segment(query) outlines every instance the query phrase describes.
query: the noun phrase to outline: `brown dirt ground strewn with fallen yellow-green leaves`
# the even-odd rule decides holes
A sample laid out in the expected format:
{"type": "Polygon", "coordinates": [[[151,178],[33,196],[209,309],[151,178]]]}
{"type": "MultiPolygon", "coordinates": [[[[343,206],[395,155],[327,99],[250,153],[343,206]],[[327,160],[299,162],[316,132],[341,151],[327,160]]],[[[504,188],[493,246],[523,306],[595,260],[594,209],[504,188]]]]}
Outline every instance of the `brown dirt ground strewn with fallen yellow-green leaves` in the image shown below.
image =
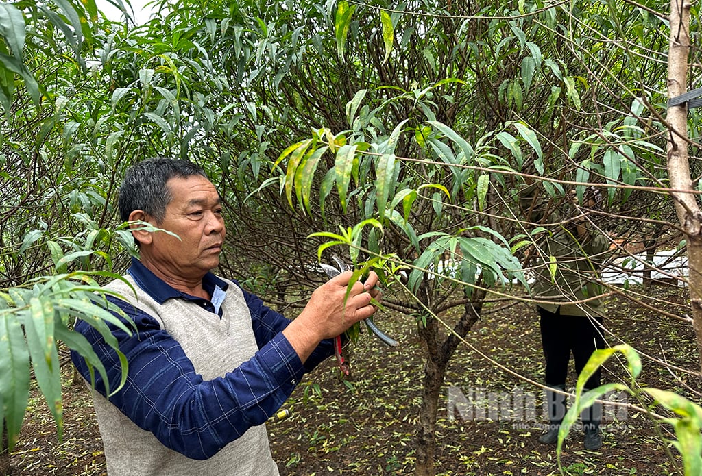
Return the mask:
{"type": "MultiPolygon", "coordinates": [[[[688,296],[682,288],[657,287],[645,297],[676,315],[686,312],[688,296]]],[[[661,363],[696,368],[691,325],[622,298],[610,299],[608,308],[607,326],[613,334],[608,343],[624,341],[649,356],[642,357],[639,382],[699,402],[685,387],[689,377],[661,363]]],[[[376,322],[402,345],[387,348],[362,335],[351,354],[350,381],[340,381],[333,359],[325,362],[286,403],[291,416],[269,424],[282,475],[413,474],[423,348],[410,318],[380,315],[376,322]]],[[[528,381],[540,382],[543,374],[536,312],[513,304],[486,313],[467,340],[473,348],[458,349],[439,402],[437,475],[560,474],[555,447],[536,441],[544,423],[541,390],[528,381]]],[[[106,474],[88,391],[82,383],[72,383],[70,372],[67,364],[62,442],[46,405],[32,393],[20,444],[11,454],[12,475],[106,474]]],[[[613,358],[607,363],[604,381],[629,382],[622,362],[613,358]]],[[[641,404],[623,392],[607,398],[641,404]]],[[[569,435],[560,456],[564,474],[682,475],[669,442],[674,436],[670,427],[630,407],[606,404],[602,428],[600,451],[585,451],[577,430],[569,435]]]]}

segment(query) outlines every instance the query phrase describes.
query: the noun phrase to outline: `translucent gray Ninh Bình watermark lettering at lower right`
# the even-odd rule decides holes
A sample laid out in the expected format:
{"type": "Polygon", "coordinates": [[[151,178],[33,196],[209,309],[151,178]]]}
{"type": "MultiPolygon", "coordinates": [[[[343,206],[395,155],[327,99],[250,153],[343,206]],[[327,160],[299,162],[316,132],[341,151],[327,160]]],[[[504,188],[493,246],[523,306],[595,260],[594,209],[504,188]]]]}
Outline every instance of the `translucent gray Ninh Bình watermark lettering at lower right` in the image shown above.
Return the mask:
{"type": "MultiPolygon", "coordinates": [[[[625,392],[605,393],[602,400],[602,430],[623,430],[628,419],[628,397],[625,392]]],[[[567,400],[573,401],[573,397],[567,400]]],[[[450,386],[446,412],[449,421],[496,421],[512,423],[513,428],[531,429],[548,425],[548,409],[543,391],[526,391],[515,387],[510,391],[494,392],[486,388],[461,390],[450,386]]]]}

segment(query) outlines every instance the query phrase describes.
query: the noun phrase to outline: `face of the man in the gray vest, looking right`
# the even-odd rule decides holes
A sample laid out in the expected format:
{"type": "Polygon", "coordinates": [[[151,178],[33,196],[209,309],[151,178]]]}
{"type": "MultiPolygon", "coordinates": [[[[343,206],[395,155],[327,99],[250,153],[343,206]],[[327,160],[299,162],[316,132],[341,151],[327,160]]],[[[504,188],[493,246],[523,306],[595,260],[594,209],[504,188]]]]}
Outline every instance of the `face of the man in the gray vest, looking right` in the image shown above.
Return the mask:
{"type": "Polygon", "coordinates": [[[225,238],[220,197],[214,185],[205,177],[192,175],[166,182],[173,199],[166,207],[161,229],[172,231],[154,233],[148,250],[152,266],[173,278],[201,278],[219,264],[219,254],[225,238]]]}

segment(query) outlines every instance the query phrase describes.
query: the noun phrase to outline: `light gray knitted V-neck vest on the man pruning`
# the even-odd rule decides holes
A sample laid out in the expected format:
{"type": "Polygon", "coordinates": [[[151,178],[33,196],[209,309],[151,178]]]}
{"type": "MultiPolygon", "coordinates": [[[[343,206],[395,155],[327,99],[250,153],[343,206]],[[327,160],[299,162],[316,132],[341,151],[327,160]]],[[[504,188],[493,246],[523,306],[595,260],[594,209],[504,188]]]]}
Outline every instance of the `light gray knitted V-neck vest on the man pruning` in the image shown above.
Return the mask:
{"type": "MultiPolygon", "coordinates": [[[[230,283],[223,302],[223,318],[183,299],[158,304],[140,290],[130,276],[132,290],[117,280],[107,287],[134,306],[152,315],[183,347],[195,372],[204,380],[225,376],[249,360],[258,347],[251,329],[251,315],[244,294],[230,283]]],[[[109,476],[277,476],[265,425],[250,428],[212,458],[197,461],[164,447],[142,430],[105,397],[93,391],[95,414],[105,447],[109,476]]],[[[216,403],[213,403],[216,404],[216,403]]]]}

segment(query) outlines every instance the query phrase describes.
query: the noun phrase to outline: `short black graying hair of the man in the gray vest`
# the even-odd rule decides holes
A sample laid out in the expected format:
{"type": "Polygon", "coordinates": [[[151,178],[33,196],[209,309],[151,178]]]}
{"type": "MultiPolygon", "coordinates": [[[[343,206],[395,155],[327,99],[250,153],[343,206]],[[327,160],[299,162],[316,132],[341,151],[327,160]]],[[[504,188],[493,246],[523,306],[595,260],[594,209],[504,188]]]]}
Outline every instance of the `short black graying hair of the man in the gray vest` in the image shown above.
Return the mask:
{"type": "Polygon", "coordinates": [[[119,217],[129,219],[134,210],[144,210],[157,223],[166,218],[166,206],[173,200],[166,182],[174,177],[187,178],[200,175],[208,179],[199,165],[172,158],[149,158],[132,165],[124,175],[119,189],[119,217]]]}

